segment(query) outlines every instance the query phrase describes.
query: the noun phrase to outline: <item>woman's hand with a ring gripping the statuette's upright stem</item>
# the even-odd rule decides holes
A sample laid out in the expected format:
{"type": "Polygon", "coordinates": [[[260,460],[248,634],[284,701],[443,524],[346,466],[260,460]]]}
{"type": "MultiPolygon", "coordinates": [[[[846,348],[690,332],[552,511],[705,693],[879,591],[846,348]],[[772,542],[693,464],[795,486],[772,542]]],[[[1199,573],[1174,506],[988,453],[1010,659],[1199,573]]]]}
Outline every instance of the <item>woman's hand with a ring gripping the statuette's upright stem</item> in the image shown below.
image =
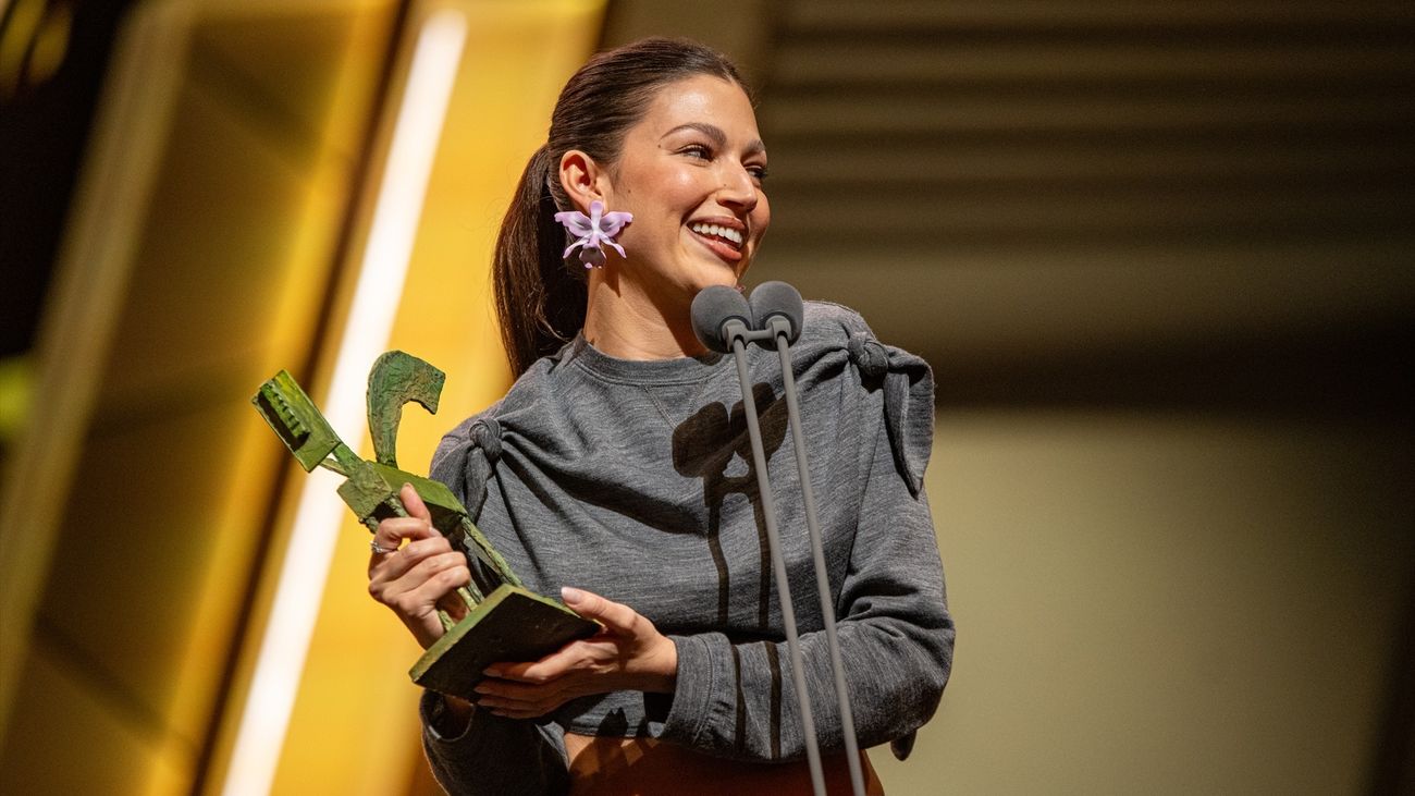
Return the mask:
{"type": "Polygon", "coordinates": [[[467,557],[453,550],[447,537],[433,527],[417,490],[403,484],[398,497],[408,517],[383,520],[374,531],[374,544],[388,552],[369,555],[368,593],[391,608],[427,649],[443,635],[439,608],[454,620],[467,615],[467,605],[456,589],[471,582],[471,571],[467,557]]]}

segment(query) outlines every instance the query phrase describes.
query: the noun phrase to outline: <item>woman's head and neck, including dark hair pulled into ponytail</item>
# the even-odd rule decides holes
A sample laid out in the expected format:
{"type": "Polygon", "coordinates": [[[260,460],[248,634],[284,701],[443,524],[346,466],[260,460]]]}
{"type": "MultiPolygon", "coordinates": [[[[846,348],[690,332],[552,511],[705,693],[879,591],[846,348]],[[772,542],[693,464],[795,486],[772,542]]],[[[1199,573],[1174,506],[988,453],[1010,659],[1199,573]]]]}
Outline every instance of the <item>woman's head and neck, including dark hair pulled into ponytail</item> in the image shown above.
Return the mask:
{"type": "MultiPolygon", "coordinates": [[[[747,271],[771,221],[761,190],[766,146],[736,67],[669,40],[616,52],[566,84],[546,144],[531,157],[502,222],[497,303],[516,374],[582,327],[596,344],[625,316],[682,327],[698,289],[734,285],[747,271]],[[635,221],[621,238],[630,256],[586,278],[565,269],[553,214],[589,212],[596,200],[635,221]],[[743,239],[729,244],[722,232],[706,234],[708,225],[743,239]]],[[[645,340],[630,344],[659,341],[652,331],[635,337],[645,340]]],[[[675,350],[657,356],[702,351],[691,331],[671,340],[675,350]]],[[[616,356],[631,353],[608,346],[616,356]]]]}

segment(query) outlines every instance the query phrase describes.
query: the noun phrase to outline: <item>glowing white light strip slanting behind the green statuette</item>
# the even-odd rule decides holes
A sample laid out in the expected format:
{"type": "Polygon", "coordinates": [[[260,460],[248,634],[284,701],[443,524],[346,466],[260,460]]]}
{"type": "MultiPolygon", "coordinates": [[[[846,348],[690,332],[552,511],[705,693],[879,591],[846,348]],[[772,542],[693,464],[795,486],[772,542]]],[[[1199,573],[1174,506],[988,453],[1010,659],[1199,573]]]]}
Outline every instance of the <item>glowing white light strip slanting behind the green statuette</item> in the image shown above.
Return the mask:
{"type": "MultiPolygon", "coordinates": [[[[325,401],[330,425],[355,446],[365,433],[368,367],[388,344],[393,327],[466,41],[467,20],[453,8],[430,16],[417,34],[325,401]]],[[[347,508],[334,491],[337,484],[338,476],[317,470],[300,493],[250,694],[226,769],[226,795],[267,793],[275,780],[334,545],[345,521],[347,508]]]]}

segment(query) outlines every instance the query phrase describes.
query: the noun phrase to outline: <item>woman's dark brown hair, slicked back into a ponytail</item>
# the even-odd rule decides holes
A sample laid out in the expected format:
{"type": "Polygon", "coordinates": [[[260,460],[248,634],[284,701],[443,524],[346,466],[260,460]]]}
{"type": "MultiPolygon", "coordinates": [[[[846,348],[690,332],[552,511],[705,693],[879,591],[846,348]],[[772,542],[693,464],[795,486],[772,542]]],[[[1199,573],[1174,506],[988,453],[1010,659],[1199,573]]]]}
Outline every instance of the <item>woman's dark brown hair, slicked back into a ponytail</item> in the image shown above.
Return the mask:
{"type": "Polygon", "coordinates": [[[501,340],[516,377],[584,324],[584,268],[562,259],[566,232],[555,220],[558,211],[573,210],[559,180],[560,157],[577,149],[611,166],[657,92],[698,75],[746,91],[732,61],[685,38],[645,38],[600,52],[565,84],[546,143],[531,156],[501,221],[492,259],[501,340]]]}

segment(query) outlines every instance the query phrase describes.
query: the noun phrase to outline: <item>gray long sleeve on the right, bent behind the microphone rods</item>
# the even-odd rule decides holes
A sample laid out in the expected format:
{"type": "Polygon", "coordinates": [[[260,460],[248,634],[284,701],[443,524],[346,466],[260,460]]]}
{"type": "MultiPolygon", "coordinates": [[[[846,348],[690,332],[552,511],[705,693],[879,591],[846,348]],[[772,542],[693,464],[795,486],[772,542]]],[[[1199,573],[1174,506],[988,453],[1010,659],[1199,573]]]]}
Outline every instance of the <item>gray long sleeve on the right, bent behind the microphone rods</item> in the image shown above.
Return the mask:
{"type": "MultiPolygon", "coordinates": [[[[822,494],[832,487],[822,484],[822,494]]],[[[952,664],[954,623],[927,497],[914,494],[879,433],[856,541],[839,589],[838,637],[860,748],[907,737],[938,707],[952,664]]],[[[799,610],[799,609],[798,609],[799,610]]],[[[662,737],[734,759],[805,754],[784,642],[676,636],[678,687],[662,737]]],[[[801,633],[811,711],[824,749],[843,746],[822,630],[801,633]]]]}

